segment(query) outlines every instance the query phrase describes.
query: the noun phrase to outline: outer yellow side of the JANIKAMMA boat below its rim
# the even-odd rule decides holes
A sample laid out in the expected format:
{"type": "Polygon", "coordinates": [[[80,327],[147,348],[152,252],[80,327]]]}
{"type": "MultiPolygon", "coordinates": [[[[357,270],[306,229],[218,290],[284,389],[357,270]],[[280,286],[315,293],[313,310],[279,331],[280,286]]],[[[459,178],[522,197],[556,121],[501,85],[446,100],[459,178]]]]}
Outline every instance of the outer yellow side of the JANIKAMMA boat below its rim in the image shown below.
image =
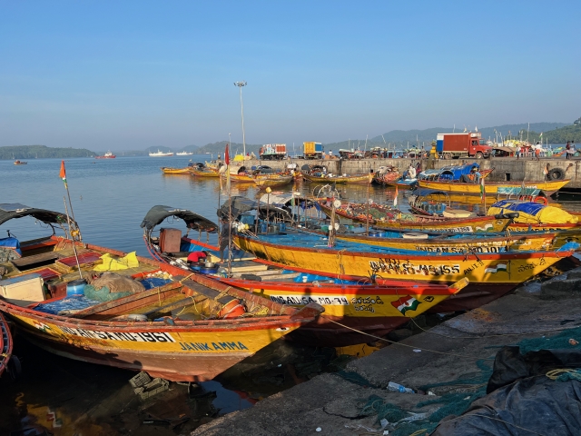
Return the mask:
{"type": "Polygon", "coordinates": [[[233,331],[208,328],[193,332],[192,328],[152,329],[138,322],[103,326],[78,320],[54,321],[32,313],[8,313],[27,339],[49,352],[77,361],[144,371],[169,381],[212,380],[300,326],[272,324],[263,326],[260,334],[240,327],[233,331]]]}

